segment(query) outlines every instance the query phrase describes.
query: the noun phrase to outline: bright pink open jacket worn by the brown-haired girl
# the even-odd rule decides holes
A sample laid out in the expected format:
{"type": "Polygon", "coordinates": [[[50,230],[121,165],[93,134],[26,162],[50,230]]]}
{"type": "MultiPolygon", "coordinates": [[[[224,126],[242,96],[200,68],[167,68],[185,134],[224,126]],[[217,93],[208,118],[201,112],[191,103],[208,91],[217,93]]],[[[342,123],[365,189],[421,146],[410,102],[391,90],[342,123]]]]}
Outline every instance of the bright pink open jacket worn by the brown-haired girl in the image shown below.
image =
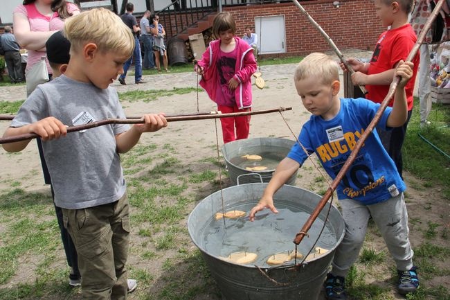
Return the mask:
{"type": "MultiPolygon", "coordinates": [[[[233,76],[240,84],[235,89],[236,105],[239,109],[251,107],[251,76],[256,71],[255,55],[246,55],[253,48],[240,37],[235,37],[237,47],[237,60],[235,75],[233,76]]],[[[217,88],[217,56],[220,50],[220,39],[209,43],[205,53],[199,60],[198,65],[204,68],[204,74],[200,80],[200,86],[208,93],[209,98],[217,103],[215,92],[217,88]]],[[[222,105],[222,103],[217,103],[222,105]]]]}

